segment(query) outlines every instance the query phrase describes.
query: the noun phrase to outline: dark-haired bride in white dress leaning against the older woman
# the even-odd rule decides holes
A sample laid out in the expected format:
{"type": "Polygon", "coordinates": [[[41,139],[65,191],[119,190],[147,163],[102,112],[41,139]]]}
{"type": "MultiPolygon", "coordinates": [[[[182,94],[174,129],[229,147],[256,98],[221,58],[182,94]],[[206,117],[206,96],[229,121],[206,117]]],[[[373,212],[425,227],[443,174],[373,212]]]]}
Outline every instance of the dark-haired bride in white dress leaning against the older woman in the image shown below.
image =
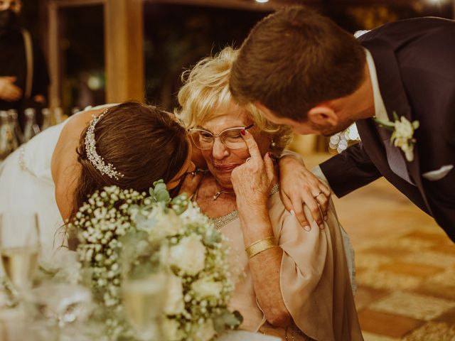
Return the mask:
{"type": "Polygon", "coordinates": [[[172,195],[194,168],[186,131],[172,114],[106,104],[46,129],[6,158],[0,212],[37,212],[41,256],[50,259],[66,242],[58,231],[87,195],[108,185],[148,191],[160,178],[172,195]]]}

